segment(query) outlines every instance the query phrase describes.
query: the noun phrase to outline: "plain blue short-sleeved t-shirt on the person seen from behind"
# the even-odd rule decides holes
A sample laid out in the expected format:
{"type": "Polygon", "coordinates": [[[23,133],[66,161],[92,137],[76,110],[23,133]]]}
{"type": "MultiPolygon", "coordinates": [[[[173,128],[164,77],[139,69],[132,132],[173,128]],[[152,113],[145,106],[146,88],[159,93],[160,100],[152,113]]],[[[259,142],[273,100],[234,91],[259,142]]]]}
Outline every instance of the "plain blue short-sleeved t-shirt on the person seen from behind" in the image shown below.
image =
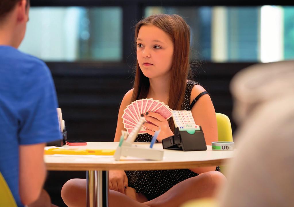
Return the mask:
{"type": "Polygon", "coordinates": [[[0,171],[18,206],[19,145],[61,139],[57,98],[46,64],[0,46],[0,171]]]}

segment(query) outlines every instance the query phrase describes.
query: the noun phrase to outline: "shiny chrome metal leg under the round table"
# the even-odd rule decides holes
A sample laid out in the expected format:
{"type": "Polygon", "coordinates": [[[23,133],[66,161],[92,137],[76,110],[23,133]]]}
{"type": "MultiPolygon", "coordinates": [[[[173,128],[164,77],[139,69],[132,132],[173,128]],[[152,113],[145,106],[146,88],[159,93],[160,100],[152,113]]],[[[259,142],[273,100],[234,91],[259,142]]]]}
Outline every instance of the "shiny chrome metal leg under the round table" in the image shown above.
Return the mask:
{"type": "Polygon", "coordinates": [[[108,171],[87,171],[87,207],[108,207],[108,171]]]}

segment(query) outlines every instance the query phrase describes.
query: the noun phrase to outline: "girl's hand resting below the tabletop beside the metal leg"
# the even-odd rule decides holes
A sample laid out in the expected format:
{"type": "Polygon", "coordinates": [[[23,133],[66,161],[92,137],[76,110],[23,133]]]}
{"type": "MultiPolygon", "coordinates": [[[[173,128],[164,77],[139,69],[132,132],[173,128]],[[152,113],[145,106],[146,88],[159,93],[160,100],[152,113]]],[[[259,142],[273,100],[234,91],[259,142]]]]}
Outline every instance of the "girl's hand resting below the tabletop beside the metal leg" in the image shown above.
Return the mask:
{"type": "Polygon", "coordinates": [[[125,194],[128,178],[123,170],[109,170],[109,189],[125,194]]]}

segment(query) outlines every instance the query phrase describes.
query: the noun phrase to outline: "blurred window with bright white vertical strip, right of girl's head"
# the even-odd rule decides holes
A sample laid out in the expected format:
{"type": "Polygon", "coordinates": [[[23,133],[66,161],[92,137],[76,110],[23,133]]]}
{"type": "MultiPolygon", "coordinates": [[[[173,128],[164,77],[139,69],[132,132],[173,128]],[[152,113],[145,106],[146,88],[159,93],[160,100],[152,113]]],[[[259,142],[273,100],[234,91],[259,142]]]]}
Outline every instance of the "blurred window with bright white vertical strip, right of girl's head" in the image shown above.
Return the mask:
{"type": "Polygon", "coordinates": [[[191,60],[272,62],[294,58],[294,6],[146,7],[191,28],[191,60]]]}

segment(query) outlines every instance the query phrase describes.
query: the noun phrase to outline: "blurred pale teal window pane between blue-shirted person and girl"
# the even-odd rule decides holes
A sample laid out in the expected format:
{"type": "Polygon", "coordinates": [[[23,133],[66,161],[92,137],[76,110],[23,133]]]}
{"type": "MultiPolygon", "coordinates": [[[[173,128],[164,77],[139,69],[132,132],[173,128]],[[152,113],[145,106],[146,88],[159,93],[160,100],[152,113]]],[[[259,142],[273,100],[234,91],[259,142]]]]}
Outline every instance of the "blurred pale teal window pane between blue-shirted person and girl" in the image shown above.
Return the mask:
{"type": "Polygon", "coordinates": [[[120,7],[32,7],[19,49],[45,61],[121,61],[122,21],[120,7]]]}

